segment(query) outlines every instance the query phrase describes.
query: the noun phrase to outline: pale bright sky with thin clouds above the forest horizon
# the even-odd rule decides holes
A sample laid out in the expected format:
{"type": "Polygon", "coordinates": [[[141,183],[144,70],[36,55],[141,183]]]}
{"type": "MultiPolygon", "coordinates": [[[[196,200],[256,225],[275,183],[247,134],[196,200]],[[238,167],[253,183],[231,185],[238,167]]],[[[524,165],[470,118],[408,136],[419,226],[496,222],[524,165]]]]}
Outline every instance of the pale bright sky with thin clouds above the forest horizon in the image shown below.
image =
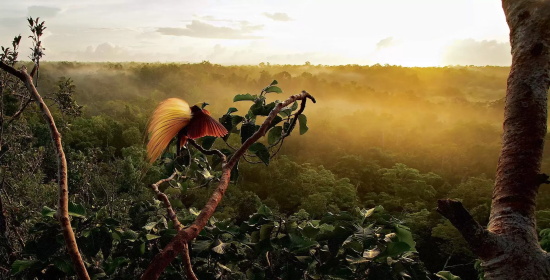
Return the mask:
{"type": "Polygon", "coordinates": [[[511,63],[500,0],[1,0],[0,45],[29,16],[49,61],[511,63]]]}

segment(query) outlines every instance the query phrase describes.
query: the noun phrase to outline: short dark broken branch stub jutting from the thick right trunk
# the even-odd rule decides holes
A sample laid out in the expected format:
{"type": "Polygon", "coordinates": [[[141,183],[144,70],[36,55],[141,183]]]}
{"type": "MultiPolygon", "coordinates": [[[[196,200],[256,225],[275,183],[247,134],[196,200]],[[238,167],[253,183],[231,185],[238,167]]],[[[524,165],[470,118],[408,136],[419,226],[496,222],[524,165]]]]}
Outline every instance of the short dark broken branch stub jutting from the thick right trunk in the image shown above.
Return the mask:
{"type": "Polygon", "coordinates": [[[464,208],[460,201],[440,199],[437,201],[437,212],[449,219],[453,226],[464,237],[472,252],[481,258],[489,257],[496,247],[496,239],[464,208]]]}

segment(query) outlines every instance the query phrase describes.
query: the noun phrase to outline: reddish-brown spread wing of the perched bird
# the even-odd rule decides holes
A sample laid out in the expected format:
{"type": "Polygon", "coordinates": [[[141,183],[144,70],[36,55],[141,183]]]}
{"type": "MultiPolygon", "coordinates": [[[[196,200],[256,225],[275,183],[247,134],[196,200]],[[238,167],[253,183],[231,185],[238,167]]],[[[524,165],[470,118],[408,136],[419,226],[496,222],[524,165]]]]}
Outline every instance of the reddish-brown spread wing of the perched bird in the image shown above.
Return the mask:
{"type": "Polygon", "coordinates": [[[210,116],[206,110],[200,110],[193,113],[193,118],[187,126],[187,136],[191,139],[204,136],[222,137],[227,134],[227,129],[210,116]]]}

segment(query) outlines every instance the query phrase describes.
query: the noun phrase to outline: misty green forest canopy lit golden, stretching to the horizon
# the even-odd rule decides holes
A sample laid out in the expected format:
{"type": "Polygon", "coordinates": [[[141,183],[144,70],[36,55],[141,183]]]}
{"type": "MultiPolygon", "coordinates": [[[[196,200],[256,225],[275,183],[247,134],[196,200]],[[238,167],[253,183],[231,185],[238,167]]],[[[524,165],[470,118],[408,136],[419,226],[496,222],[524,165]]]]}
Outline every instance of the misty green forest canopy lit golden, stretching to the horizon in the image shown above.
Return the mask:
{"type": "MultiPolygon", "coordinates": [[[[233,103],[234,96],[256,94],[273,80],[284,92],[270,93],[269,98],[284,100],[301,90],[315,96],[317,103],[308,104],[304,113],[309,130],[285,140],[268,166],[255,164],[258,159],[250,157],[240,162],[239,177],[230,185],[215,219],[193,243],[194,268],[202,276],[199,278],[276,279],[269,276],[277,274],[269,272],[270,267],[276,267],[273,259],[304,264],[304,271],[317,269],[318,275],[337,275],[322,270],[322,246],[318,256],[308,255],[317,245],[308,243],[311,240],[306,237],[327,230],[322,226],[329,223],[329,218],[338,220],[343,213],[362,213],[365,217],[374,213],[380,228],[388,224],[408,227],[414,242],[403,241],[410,248],[402,251],[415,248],[417,253],[411,253],[408,265],[418,266],[411,269],[404,265],[408,275],[411,271],[448,270],[462,279],[476,279],[480,273],[461,235],[435,208],[437,199],[459,199],[477,221],[487,224],[509,68],[310,63],[221,66],[207,61],[43,62],[40,66],[38,90],[46,96],[71,94],[78,104],[73,107],[78,109],[74,114],[62,113],[62,109],[54,109],[53,114],[68,159],[73,222],[77,238],[82,241],[79,246],[89,256],[91,267],[97,266],[98,271],[101,267],[102,274],[97,275],[135,279],[162,248],[156,243],[169,240],[164,234],[174,235],[163,218],[164,209],[152,199],[154,194],[148,187],[168,177],[173,171],[169,166],[174,166],[157,163],[148,167],[145,160],[147,121],[155,106],[169,97],[185,99],[189,104],[204,101],[210,104],[207,109],[212,116],[220,118],[229,107],[246,112],[247,104],[233,103]],[[292,261],[285,255],[270,257],[263,253],[268,265],[233,262],[237,255],[244,259],[254,255],[243,249],[252,245],[244,246],[244,239],[237,240],[238,230],[242,234],[257,225],[257,242],[252,243],[265,241],[262,232],[267,229],[262,226],[267,224],[251,220],[259,217],[300,228],[300,236],[289,235],[294,238],[292,242],[302,246],[287,252],[293,255],[292,261]],[[300,250],[306,252],[302,254],[305,257],[296,257],[302,256],[300,250]],[[102,264],[94,266],[94,261],[102,264]]],[[[60,99],[55,100],[46,99],[46,103],[63,108],[60,99]]],[[[17,102],[9,98],[3,102],[7,115],[18,110],[17,102]]],[[[58,225],[52,218],[57,200],[55,153],[38,107],[31,104],[29,108],[10,128],[19,140],[4,139],[17,144],[2,149],[0,156],[0,196],[10,225],[7,237],[0,242],[1,250],[6,252],[0,254],[0,266],[3,275],[9,272],[23,278],[46,279],[44,275],[49,274],[44,271],[51,268],[51,275],[65,277],[71,275],[70,262],[63,256],[63,243],[55,241],[58,225]]],[[[216,140],[214,146],[224,148],[226,144],[216,140]]],[[[545,153],[548,151],[545,149],[545,153]]],[[[549,158],[544,155],[542,170],[550,168],[549,158]]],[[[169,160],[170,153],[162,159],[165,163],[169,160]]],[[[163,188],[184,224],[204,205],[213,188],[213,176],[201,174],[202,180],[163,188]]],[[[537,226],[541,244],[548,250],[550,232],[544,229],[550,228],[550,193],[546,188],[541,188],[538,199],[537,226]]],[[[254,240],[254,234],[249,237],[254,240]]],[[[317,238],[319,244],[320,240],[323,238],[317,238]]],[[[351,244],[346,238],[342,242],[351,244]]],[[[271,241],[270,246],[278,245],[271,241]]],[[[355,249],[349,246],[344,248],[355,249]]],[[[332,250],[330,242],[326,250],[332,250]]],[[[349,258],[338,261],[344,260],[361,263],[349,258]]],[[[177,274],[181,269],[174,262],[163,277],[170,279],[170,273],[177,274]]],[[[395,267],[391,271],[394,276],[402,272],[395,267]]],[[[295,272],[284,273],[291,277],[295,272]]],[[[314,278],[313,274],[303,273],[300,277],[351,279],[345,277],[347,272],[341,273],[342,278],[314,278]]],[[[381,277],[372,279],[402,279],[381,277]]]]}

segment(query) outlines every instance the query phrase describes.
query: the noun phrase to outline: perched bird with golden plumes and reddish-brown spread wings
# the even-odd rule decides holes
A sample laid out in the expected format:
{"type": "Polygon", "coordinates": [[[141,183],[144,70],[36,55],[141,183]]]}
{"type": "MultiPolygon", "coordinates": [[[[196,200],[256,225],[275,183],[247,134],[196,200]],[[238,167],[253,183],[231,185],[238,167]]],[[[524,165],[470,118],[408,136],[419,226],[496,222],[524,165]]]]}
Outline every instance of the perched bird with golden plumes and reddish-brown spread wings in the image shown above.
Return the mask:
{"type": "Polygon", "coordinates": [[[201,102],[189,107],[189,104],[181,99],[169,98],[157,106],[147,127],[149,163],[153,163],[176,136],[180,149],[188,138],[222,137],[227,134],[227,129],[204,109],[206,105],[208,103],[201,102]]]}

